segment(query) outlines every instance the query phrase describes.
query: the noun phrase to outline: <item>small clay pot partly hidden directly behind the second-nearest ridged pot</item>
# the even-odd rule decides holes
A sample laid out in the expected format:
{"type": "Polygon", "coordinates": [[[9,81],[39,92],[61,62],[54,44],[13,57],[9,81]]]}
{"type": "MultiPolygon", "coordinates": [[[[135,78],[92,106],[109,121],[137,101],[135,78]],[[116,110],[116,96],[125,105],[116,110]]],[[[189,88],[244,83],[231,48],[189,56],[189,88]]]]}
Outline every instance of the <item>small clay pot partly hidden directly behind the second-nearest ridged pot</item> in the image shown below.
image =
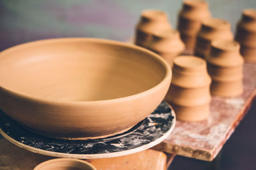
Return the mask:
{"type": "Polygon", "coordinates": [[[202,22],[202,27],[196,37],[195,55],[203,58],[208,55],[211,41],[214,39],[233,39],[230,24],[227,21],[210,18],[202,22]]]}

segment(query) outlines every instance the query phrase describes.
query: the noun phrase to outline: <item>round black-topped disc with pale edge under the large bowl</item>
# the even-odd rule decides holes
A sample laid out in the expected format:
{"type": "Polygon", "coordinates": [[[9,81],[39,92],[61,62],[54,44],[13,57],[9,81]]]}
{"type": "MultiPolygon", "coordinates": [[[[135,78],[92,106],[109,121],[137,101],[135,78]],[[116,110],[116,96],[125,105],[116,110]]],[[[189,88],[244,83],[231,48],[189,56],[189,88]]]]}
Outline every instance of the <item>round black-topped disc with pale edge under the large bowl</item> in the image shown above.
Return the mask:
{"type": "Polygon", "coordinates": [[[173,131],[175,113],[164,101],[132,129],[102,139],[67,140],[34,134],[0,111],[0,133],[8,141],[30,152],[52,157],[97,159],[140,152],[161,143],[173,131]]]}

